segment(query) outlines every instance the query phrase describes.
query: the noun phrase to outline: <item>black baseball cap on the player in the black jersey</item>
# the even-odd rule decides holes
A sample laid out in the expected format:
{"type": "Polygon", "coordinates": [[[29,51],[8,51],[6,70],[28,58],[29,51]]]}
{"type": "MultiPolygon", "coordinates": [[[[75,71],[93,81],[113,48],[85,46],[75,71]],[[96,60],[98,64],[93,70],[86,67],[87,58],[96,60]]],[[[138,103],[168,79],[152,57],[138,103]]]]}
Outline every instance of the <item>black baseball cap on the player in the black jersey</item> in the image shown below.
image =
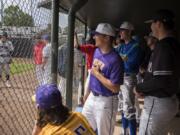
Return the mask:
{"type": "Polygon", "coordinates": [[[174,13],[168,9],[160,9],[151,16],[151,18],[145,23],[152,23],[154,21],[162,21],[162,22],[169,22],[173,21],[174,13]]]}

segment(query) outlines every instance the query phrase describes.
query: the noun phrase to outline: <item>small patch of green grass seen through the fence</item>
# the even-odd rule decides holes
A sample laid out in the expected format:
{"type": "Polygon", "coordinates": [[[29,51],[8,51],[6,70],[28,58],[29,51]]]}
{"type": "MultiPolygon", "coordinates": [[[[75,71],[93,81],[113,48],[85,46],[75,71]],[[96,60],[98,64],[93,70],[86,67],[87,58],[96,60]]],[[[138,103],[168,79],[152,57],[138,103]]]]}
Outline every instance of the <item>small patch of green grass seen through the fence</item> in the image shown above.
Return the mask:
{"type": "Polygon", "coordinates": [[[20,74],[26,71],[30,71],[34,68],[34,64],[17,63],[16,61],[10,65],[11,74],[20,74]]]}

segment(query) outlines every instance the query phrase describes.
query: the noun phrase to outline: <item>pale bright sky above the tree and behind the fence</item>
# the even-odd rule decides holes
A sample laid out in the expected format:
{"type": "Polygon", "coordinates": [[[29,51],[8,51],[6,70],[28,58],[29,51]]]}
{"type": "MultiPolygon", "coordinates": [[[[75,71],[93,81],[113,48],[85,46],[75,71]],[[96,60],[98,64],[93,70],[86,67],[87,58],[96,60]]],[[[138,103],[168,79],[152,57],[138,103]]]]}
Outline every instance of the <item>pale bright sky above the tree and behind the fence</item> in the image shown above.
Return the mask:
{"type": "MultiPolygon", "coordinates": [[[[37,8],[37,4],[40,1],[42,0],[1,0],[0,9],[2,9],[2,5],[3,9],[10,5],[18,5],[24,12],[33,16],[35,26],[44,28],[51,23],[51,11],[45,8],[37,8]]],[[[60,27],[64,28],[67,26],[67,15],[60,13],[59,20],[60,27]]]]}

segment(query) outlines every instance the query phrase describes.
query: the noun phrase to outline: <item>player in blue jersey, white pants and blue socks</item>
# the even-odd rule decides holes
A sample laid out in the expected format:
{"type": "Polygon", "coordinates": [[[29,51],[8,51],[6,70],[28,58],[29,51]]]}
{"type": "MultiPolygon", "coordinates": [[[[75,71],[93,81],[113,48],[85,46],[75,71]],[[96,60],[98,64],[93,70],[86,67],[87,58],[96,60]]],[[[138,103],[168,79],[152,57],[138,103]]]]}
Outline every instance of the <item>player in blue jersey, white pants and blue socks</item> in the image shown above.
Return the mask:
{"type": "Polygon", "coordinates": [[[123,22],[120,26],[120,37],[124,40],[116,51],[124,61],[124,84],[121,86],[123,98],[122,126],[123,134],[136,135],[136,109],[133,88],[136,85],[136,74],[139,71],[141,51],[136,40],[132,39],[134,26],[130,22],[123,22]]]}

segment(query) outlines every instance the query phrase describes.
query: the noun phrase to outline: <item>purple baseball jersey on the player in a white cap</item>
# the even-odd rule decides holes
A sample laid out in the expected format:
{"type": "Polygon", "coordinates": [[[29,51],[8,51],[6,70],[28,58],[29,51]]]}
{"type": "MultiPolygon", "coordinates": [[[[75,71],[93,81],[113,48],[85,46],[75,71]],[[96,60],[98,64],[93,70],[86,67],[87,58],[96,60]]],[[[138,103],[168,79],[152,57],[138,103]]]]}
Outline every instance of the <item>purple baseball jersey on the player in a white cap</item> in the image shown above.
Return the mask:
{"type": "MultiPolygon", "coordinates": [[[[101,50],[97,48],[94,53],[93,65],[100,66],[100,72],[113,84],[121,85],[123,83],[123,61],[114,49],[107,54],[103,54],[101,50]]],[[[90,76],[89,89],[102,96],[118,94],[112,93],[92,74],[90,76]]]]}

